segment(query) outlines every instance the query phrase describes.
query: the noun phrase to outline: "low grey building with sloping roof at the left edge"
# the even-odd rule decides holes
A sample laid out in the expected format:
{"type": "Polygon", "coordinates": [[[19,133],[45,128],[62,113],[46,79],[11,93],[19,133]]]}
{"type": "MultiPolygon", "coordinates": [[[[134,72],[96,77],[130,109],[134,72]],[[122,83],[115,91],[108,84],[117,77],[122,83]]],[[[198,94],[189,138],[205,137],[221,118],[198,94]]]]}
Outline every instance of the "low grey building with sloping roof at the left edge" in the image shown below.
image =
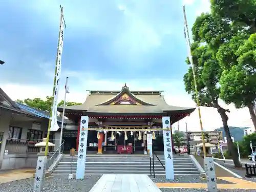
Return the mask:
{"type": "MultiPolygon", "coordinates": [[[[47,137],[49,118],[48,112],[12,101],[0,88],[0,169],[36,166],[39,148],[34,145],[47,137]]],[[[66,119],[66,124],[72,121],[66,119]]],[[[58,147],[59,133],[51,132],[50,141],[58,147]]]]}

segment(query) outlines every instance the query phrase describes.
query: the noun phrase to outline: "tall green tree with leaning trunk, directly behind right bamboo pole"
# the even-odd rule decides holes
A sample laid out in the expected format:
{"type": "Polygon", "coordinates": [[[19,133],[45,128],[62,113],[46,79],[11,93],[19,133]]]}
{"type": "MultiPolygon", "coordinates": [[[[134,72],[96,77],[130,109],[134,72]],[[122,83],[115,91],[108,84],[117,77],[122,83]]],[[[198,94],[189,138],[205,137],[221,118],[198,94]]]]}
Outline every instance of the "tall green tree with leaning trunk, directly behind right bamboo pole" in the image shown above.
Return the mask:
{"type": "MultiPolygon", "coordinates": [[[[211,14],[202,14],[197,17],[193,25],[193,40],[195,42],[191,46],[191,55],[195,65],[200,105],[217,109],[222,119],[234,165],[239,167],[241,165],[238,159],[238,152],[233,147],[227,124],[228,116],[226,113],[230,111],[222,108],[219,104],[219,82],[223,70],[216,59],[219,47],[231,38],[231,34],[232,29],[227,21],[215,19],[211,14]]],[[[190,64],[188,59],[186,62],[190,64]]],[[[196,90],[191,67],[184,75],[184,83],[186,92],[196,101],[196,90]]]]}

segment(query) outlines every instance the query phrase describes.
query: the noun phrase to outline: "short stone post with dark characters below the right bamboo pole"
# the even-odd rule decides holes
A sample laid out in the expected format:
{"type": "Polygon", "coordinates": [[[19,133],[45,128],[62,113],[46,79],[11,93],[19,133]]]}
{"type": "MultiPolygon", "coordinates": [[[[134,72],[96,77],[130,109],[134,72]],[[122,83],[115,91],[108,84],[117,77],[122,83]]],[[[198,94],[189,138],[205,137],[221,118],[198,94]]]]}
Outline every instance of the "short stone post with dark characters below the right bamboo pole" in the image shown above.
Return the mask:
{"type": "Polygon", "coordinates": [[[204,166],[207,178],[207,188],[209,192],[217,192],[217,179],[215,175],[214,158],[205,157],[204,166]]]}

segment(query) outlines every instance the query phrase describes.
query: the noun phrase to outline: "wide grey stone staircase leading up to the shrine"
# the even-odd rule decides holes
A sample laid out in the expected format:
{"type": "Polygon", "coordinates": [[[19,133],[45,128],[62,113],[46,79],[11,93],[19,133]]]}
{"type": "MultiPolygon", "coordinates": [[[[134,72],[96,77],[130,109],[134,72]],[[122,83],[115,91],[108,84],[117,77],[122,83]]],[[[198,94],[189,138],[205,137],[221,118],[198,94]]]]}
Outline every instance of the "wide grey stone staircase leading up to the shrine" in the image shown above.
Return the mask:
{"type": "MultiPolygon", "coordinates": [[[[164,156],[158,155],[164,165],[164,156]]],[[[175,175],[200,175],[188,156],[174,155],[175,175]]],[[[76,173],[77,156],[64,155],[53,175],[76,173]]],[[[155,174],[165,175],[165,170],[158,159],[154,158],[155,174]]],[[[150,175],[150,157],[148,155],[87,155],[86,174],[147,174],[150,175]]],[[[153,174],[153,163],[152,163],[153,174]]]]}

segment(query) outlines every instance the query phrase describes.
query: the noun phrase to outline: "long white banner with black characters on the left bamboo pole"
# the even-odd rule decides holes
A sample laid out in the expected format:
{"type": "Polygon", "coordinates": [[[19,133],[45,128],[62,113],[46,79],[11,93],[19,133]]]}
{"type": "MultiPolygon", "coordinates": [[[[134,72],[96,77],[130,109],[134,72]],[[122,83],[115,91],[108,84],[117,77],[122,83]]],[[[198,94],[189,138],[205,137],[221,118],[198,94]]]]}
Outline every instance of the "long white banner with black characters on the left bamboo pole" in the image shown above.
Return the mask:
{"type": "Polygon", "coordinates": [[[59,45],[58,45],[58,53],[57,53],[57,69],[56,69],[56,80],[54,84],[54,95],[53,95],[53,103],[52,103],[52,115],[51,115],[51,131],[57,131],[59,129],[57,123],[57,105],[58,105],[58,96],[59,96],[59,84],[60,84],[60,72],[61,72],[61,56],[63,50],[63,31],[64,31],[64,20],[63,15],[61,15],[61,25],[60,25],[60,33],[59,33],[59,45]]]}

